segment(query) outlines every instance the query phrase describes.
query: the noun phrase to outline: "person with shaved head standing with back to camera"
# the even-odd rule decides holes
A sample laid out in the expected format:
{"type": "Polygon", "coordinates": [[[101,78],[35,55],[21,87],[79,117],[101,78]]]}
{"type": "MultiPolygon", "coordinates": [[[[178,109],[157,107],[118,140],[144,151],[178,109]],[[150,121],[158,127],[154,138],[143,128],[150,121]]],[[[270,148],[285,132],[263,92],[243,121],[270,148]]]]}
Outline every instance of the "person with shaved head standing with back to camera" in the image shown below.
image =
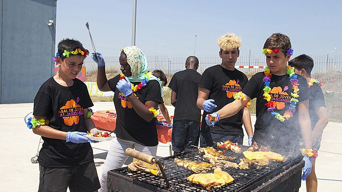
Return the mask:
{"type": "Polygon", "coordinates": [[[169,84],[172,89],[171,104],[175,107],[172,129],[172,150],[174,155],[193,150],[198,146],[201,110],[196,106],[198,82],[198,58],[189,56],[185,70],[176,72],[169,84]]]}

